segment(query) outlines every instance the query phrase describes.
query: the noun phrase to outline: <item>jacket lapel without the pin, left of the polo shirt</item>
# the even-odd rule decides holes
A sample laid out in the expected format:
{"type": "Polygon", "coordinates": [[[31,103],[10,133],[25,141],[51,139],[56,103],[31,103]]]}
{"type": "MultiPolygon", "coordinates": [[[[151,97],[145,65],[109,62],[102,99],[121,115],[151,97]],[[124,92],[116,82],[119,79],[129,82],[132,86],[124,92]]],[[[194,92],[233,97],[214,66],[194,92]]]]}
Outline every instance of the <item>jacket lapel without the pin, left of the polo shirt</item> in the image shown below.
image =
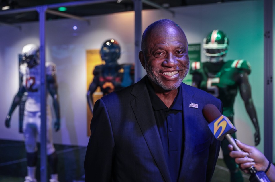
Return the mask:
{"type": "Polygon", "coordinates": [[[145,77],[139,81],[131,92],[136,98],[131,101],[131,106],[146,140],[148,148],[160,169],[165,181],[170,182],[171,177],[164,156],[164,150],[158,132],[150,97],[145,84],[145,77]]]}

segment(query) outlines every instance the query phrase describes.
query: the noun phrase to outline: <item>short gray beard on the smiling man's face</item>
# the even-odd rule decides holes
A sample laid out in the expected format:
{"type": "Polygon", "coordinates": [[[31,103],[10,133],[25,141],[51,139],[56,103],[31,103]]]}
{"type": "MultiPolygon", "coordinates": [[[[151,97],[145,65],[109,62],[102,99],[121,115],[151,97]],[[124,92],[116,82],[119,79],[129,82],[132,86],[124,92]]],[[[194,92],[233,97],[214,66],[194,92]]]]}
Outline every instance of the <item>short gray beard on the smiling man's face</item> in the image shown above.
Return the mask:
{"type": "Polygon", "coordinates": [[[182,80],[186,77],[188,70],[189,70],[189,64],[185,68],[186,68],[186,71],[185,71],[184,75],[180,76],[178,81],[171,87],[164,85],[164,83],[162,82],[160,77],[156,77],[156,75],[153,74],[152,66],[147,66],[145,68],[145,70],[146,70],[146,73],[150,80],[152,80],[156,85],[160,86],[162,89],[164,89],[166,91],[170,91],[170,90],[177,89],[180,86],[180,84],[182,83],[182,80]]]}

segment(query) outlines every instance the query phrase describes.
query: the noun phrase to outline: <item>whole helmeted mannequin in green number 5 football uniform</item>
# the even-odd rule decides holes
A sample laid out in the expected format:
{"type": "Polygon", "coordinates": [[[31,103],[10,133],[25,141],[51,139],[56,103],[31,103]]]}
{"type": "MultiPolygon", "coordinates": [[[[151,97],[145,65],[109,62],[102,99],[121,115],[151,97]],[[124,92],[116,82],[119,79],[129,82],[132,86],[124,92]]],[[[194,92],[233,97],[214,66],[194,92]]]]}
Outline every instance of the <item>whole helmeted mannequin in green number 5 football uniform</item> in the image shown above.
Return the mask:
{"type": "MultiPolygon", "coordinates": [[[[190,69],[190,74],[193,75],[192,86],[219,98],[223,103],[223,115],[227,116],[233,124],[233,107],[239,90],[247,114],[255,127],[254,141],[255,145],[258,145],[260,131],[248,81],[248,75],[251,72],[249,62],[243,59],[226,62],[223,60],[227,53],[228,39],[221,30],[213,30],[204,39],[203,48],[208,60],[207,62],[192,63],[190,69]]],[[[232,136],[236,138],[235,134],[232,136]]],[[[227,140],[221,142],[224,162],[230,171],[231,182],[241,182],[243,181],[241,171],[234,159],[229,156],[228,144],[227,140]]]]}

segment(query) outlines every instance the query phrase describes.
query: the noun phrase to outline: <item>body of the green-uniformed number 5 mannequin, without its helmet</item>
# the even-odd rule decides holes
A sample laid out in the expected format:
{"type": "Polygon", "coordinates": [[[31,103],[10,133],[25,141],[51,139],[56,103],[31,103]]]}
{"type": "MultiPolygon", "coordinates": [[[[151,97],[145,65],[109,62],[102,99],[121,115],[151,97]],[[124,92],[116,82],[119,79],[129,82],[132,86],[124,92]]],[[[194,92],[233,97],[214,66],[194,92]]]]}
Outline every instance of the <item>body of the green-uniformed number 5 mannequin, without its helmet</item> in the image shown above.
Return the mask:
{"type": "MultiPolygon", "coordinates": [[[[193,74],[193,86],[211,93],[223,102],[223,115],[227,116],[234,124],[234,101],[238,89],[245,102],[247,113],[249,114],[255,127],[255,145],[260,142],[260,132],[256,111],[251,98],[251,89],[248,82],[250,74],[250,64],[245,60],[229,60],[227,62],[193,62],[190,74],[193,74]]],[[[235,134],[232,134],[236,138],[235,134]]],[[[237,171],[235,161],[229,156],[227,140],[221,142],[224,161],[231,171],[237,171]]],[[[232,179],[233,180],[233,179],[232,179]]],[[[231,180],[231,181],[232,181],[231,180]]],[[[234,179],[235,181],[235,179],[234,179]]]]}

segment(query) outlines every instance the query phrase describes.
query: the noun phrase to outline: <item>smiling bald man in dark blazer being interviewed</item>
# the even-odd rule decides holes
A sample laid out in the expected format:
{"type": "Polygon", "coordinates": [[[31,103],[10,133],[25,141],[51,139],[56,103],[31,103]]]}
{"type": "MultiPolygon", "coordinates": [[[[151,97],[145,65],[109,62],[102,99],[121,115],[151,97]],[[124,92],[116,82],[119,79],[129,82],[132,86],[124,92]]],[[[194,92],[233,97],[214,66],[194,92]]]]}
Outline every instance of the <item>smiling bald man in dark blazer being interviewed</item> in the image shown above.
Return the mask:
{"type": "Polygon", "coordinates": [[[85,181],[210,181],[219,155],[202,114],[212,95],[182,83],[189,70],[183,30],[169,19],[142,35],[147,75],[95,103],[85,156],[85,181]]]}

